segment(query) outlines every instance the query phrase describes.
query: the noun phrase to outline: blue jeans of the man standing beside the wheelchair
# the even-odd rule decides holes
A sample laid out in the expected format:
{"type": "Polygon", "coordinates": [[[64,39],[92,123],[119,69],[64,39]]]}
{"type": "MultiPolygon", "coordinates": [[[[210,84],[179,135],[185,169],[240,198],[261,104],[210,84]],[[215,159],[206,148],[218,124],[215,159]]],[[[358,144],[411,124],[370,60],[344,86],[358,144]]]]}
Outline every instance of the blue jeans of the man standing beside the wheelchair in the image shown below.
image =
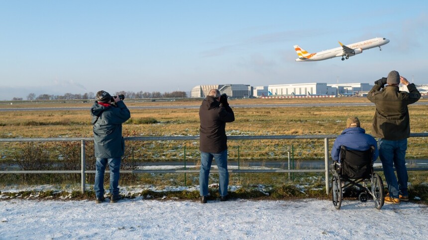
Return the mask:
{"type": "Polygon", "coordinates": [[[407,175],[405,160],[407,138],[402,140],[385,140],[380,138],[378,145],[379,157],[380,161],[382,161],[386,182],[388,183],[389,195],[394,198],[398,198],[399,194],[409,196],[407,192],[409,177],[407,175]],[[397,177],[395,177],[393,167],[397,171],[397,177]]]}

